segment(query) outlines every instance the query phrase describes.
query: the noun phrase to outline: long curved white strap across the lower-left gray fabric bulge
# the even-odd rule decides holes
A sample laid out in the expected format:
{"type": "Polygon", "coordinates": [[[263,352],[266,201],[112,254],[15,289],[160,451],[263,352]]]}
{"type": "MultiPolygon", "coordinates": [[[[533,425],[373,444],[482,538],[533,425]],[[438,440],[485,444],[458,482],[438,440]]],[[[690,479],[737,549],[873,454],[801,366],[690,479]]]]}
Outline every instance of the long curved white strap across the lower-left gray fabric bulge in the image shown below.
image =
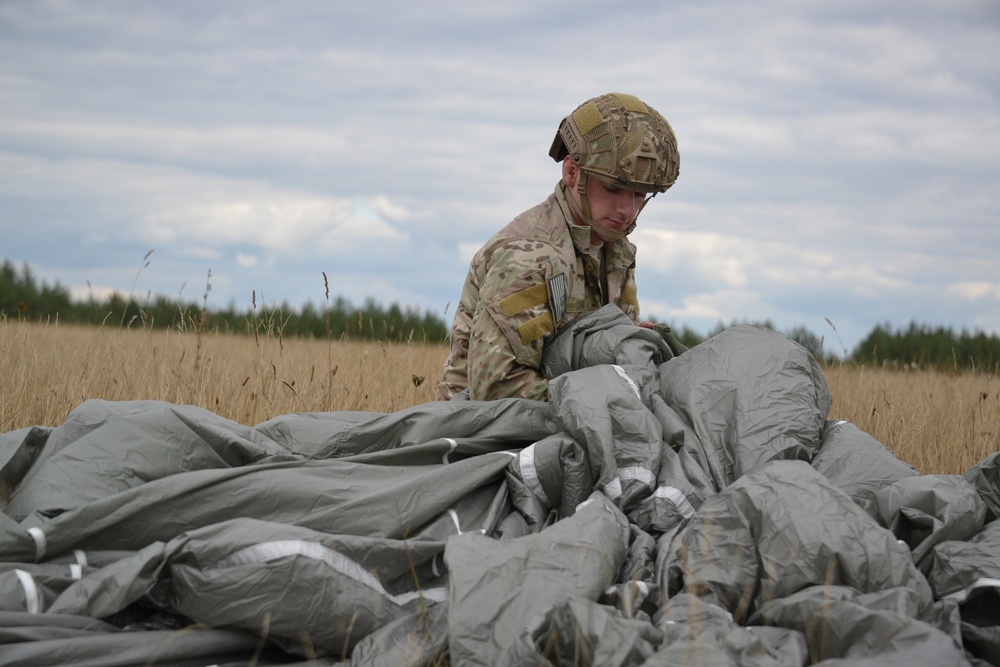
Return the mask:
{"type": "Polygon", "coordinates": [[[434,602],[443,602],[448,597],[448,589],[445,587],[425,588],[410,593],[393,595],[385,590],[382,583],[362,567],[360,563],[318,542],[309,542],[307,540],[276,540],[274,542],[255,544],[237,551],[228,558],[224,558],[209,569],[266,563],[287,556],[305,556],[306,558],[312,558],[313,560],[325,563],[337,572],[367,586],[399,606],[420,598],[434,602]]]}

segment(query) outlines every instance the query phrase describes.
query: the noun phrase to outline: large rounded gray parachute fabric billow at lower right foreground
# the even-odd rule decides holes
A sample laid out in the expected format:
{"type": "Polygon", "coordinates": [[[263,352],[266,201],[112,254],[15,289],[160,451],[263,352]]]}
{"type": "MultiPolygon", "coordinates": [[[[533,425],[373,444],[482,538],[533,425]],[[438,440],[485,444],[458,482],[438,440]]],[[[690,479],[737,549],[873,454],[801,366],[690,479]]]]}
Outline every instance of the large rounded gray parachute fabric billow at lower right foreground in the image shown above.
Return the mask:
{"type": "Polygon", "coordinates": [[[798,461],[762,466],[707,500],[663,560],[661,585],[723,607],[736,622],[812,586],[901,588],[915,611],[932,604],[909,550],[798,461]]]}

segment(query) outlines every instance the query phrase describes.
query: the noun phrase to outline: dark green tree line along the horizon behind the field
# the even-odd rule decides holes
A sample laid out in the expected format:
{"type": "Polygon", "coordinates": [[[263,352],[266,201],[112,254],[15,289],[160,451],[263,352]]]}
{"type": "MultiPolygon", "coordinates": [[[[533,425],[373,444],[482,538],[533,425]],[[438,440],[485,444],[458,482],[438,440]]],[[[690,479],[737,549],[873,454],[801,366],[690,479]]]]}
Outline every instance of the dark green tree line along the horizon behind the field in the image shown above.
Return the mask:
{"type": "MultiPolygon", "coordinates": [[[[386,308],[372,299],[361,306],[338,296],[332,303],[321,306],[309,302],[299,308],[288,303],[258,307],[254,295],[252,307],[240,311],[234,305],[226,309],[208,308],[207,297],[206,292],[204,303],[200,305],[194,300],[182,302],[163,296],[139,301],[118,293],[103,300],[90,296],[86,301],[74,301],[69,290],[58,281],[54,284],[39,281],[27,264],[18,270],[9,260],[4,260],[0,266],[0,317],[7,320],[59,320],[116,327],[173,327],[184,331],[421,343],[445,342],[450,329],[444,320],[429,312],[420,313],[397,304],[386,308]]],[[[705,335],[687,326],[675,329],[674,333],[684,345],[693,347],[736,324],[735,321],[728,325],[719,322],[705,335]]],[[[753,324],[776,328],[768,320],[753,324]]],[[[837,359],[824,338],[804,326],[783,333],[818,359],[831,362],[837,359]]],[[[956,334],[949,327],[916,322],[898,329],[880,324],[847,354],[844,361],[899,368],[997,372],[1000,369],[1000,337],[964,329],[956,334]]]]}

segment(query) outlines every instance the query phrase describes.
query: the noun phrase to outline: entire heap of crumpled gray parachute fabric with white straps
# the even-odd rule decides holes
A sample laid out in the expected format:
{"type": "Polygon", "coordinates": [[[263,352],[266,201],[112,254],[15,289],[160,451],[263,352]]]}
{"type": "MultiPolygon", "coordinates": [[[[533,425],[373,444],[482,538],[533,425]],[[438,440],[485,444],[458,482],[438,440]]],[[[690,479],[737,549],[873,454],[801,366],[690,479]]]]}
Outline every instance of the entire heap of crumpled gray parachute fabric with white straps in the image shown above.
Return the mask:
{"type": "Polygon", "coordinates": [[[0,665],[1000,664],[997,455],[918,475],[786,337],[622,317],[548,403],[0,434],[0,665]]]}

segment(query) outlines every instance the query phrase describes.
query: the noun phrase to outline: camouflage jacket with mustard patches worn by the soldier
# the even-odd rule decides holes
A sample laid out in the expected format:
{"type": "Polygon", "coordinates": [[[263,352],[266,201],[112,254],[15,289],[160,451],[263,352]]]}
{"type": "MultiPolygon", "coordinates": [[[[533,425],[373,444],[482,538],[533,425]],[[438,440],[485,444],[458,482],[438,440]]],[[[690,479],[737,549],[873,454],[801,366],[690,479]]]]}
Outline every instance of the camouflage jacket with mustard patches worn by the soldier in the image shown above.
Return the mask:
{"type": "Polygon", "coordinates": [[[638,322],[635,246],[622,239],[604,250],[607,299],[590,228],[576,224],[559,185],[501,229],[472,259],[437,398],[468,386],[473,400],[545,400],[542,347],[556,330],[609,302],[638,322]]]}

